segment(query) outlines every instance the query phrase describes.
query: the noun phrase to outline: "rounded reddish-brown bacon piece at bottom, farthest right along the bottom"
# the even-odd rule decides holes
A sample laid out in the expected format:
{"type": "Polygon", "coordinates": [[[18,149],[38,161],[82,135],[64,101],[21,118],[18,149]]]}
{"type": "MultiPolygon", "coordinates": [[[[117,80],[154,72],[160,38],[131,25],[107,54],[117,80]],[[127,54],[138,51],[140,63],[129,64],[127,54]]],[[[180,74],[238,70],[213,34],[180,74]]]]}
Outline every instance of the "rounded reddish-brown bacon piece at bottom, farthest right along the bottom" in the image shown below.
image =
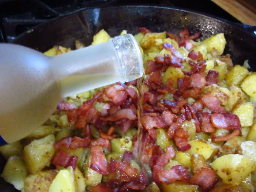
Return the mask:
{"type": "Polygon", "coordinates": [[[215,171],[210,168],[200,169],[190,180],[191,184],[202,186],[203,191],[209,191],[217,182],[218,179],[215,177],[215,171]]]}

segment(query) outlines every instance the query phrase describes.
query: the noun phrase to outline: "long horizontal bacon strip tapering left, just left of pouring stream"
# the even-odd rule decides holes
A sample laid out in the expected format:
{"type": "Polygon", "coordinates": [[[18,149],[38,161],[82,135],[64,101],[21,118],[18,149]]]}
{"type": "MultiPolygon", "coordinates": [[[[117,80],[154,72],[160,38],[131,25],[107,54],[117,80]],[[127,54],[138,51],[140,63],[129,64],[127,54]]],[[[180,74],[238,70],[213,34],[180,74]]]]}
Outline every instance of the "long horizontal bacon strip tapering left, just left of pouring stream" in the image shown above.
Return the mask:
{"type": "Polygon", "coordinates": [[[118,121],[123,118],[135,120],[137,119],[137,116],[133,113],[132,109],[120,109],[116,113],[108,117],[101,117],[100,119],[104,121],[118,121]]]}

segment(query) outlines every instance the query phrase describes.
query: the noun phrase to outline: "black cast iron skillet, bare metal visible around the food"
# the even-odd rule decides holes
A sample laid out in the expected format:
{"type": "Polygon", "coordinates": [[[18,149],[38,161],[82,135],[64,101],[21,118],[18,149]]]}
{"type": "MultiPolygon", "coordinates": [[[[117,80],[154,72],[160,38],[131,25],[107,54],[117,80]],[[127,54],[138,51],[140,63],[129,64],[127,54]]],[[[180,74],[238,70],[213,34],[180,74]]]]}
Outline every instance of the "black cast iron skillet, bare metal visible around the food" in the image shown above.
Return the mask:
{"type": "MultiPolygon", "coordinates": [[[[93,35],[101,29],[105,29],[113,37],[119,35],[123,29],[136,34],[139,32],[138,27],[177,35],[181,30],[188,29],[191,34],[201,32],[201,39],[212,34],[225,33],[227,45],[224,54],[231,54],[234,64],[243,64],[244,60],[249,60],[251,70],[256,70],[256,27],[237,25],[205,14],[165,7],[125,6],[81,10],[43,23],[20,35],[12,43],[44,52],[54,45],[74,48],[75,40],[89,45],[93,35]],[[248,27],[249,31],[246,30],[248,27]]],[[[0,172],[4,163],[3,158],[0,158],[0,172]]],[[[0,190],[5,192],[16,191],[2,178],[0,186],[0,190]]]]}

